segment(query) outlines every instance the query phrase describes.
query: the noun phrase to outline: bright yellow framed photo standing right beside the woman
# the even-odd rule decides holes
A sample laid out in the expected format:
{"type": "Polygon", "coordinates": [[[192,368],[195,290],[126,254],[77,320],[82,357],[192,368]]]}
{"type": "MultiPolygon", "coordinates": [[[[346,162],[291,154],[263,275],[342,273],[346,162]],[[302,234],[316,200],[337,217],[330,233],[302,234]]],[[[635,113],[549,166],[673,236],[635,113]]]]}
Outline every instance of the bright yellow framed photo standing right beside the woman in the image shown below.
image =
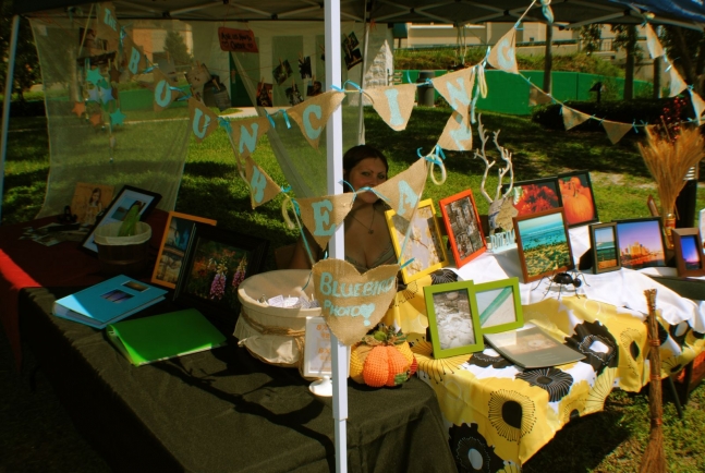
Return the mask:
{"type": "Polygon", "coordinates": [[[448,266],[446,246],[440,237],[436,210],[430,198],[418,203],[411,222],[398,216],[394,210],[387,210],[385,217],[394,252],[401,262],[401,275],[405,284],[448,266]],[[404,266],[406,262],[411,263],[404,266]]]}

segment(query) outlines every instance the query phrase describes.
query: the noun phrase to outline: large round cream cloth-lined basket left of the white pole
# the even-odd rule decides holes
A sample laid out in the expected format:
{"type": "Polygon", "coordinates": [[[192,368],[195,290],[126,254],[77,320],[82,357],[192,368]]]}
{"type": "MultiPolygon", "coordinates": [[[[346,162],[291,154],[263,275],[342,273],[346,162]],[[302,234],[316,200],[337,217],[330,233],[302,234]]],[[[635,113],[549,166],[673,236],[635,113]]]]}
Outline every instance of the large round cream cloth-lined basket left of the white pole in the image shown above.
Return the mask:
{"type": "MultiPolygon", "coordinates": [[[[242,310],[234,336],[240,345],[265,363],[297,367],[301,372],[306,317],[319,316],[320,308],[272,307],[258,301],[277,295],[299,296],[309,280],[307,269],[269,271],[245,279],[238,289],[242,310]]],[[[307,294],[312,291],[311,286],[306,287],[307,294]]]]}

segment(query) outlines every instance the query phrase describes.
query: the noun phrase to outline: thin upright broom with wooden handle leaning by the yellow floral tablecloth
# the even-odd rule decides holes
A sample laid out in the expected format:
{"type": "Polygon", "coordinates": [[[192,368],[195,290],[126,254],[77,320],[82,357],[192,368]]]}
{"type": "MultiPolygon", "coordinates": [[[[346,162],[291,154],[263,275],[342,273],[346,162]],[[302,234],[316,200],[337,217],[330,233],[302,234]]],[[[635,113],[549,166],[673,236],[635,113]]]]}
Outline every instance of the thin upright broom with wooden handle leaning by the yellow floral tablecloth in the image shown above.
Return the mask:
{"type": "Polygon", "coordinates": [[[644,458],[639,469],[640,473],[666,472],[666,456],[664,454],[664,432],[661,428],[661,355],[658,351],[658,323],[656,322],[656,289],[644,291],[648,303],[648,317],[646,317],[648,332],[648,365],[651,379],[648,385],[648,410],[652,417],[652,430],[648,445],[644,450],[644,458]]]}

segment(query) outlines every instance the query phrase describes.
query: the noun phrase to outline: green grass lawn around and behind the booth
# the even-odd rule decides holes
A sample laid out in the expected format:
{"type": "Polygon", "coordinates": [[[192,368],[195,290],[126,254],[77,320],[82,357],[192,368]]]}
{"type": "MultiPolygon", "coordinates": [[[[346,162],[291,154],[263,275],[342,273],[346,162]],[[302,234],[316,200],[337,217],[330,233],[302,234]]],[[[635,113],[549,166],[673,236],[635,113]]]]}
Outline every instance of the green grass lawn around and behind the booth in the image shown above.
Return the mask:
{"type": "MultiPolygon", "coordinates": [[[[449,109],[416,108],[409,128],[393,132],[368,109],[365,112],[366,142],[382,149],[390,159],[391,174],[417,159],[416,149],[428,153],[436,144],[450,116],[449,109]]],[[[513,154],[515,180],[554,175],[558,172],[588,169],[601,221],[616,218],[646,217],[646,198],[657,196],[653,180],[637,153],[636,140],[628,135],[610,144],[604,132],[547,131],[526,118],[484,113],[488,132],[500,131],[499,143],[513,154]]],[[[31,220],[44,199],[49,171],[46,120],[12,119],[8,141],[2,223],[31,220]]],[[[476,133],[475,145],[477,146],[476,133]]],[[[488,150],[497,156],[494,146],[488,150]]],[[[427,181],[425,198],[438,199],[472,189],[481,214],[487,203],[479,192],[484,165],[472,153],[446,153],[447,182],[437,186],[427,181]]],[[[253,156],[277,182],[284,178],[267,137],[253,156]]],[[[490,194],[494,177],[487,182],[490,194]]],[[[281,217],[280,195],[252,210],[247,189],[238,178],[227,136],[214,133],[204,143],[191,140],[181,182],[177,210],[218,220],[218,227],[266,238],[271,248],[293,242],[295,231],[287,229],[281,217]],[[218,196],[214,199],[212,196],[218,196]],[[214,204],[214,202],[216,204],[214,204]]],[[[697,193],[697,207],[705,207],[705,194],[697,193]]],[[[271,251],[270,251],[271,254],[271,251]]],[[[274,268],[270,256],[268,268],[274,268]]],[[[691,395],[682,420],[678,419],[670,396],[665,395],[665,449],[670,471],[705,471],[705,387],[691,395]]],[[[616,391],[605,411],[573,421],[558,433],[524,466],[525,472],[633,472],[637,471],[648,438],[647,398],[642,393],[616,391]]]]}

